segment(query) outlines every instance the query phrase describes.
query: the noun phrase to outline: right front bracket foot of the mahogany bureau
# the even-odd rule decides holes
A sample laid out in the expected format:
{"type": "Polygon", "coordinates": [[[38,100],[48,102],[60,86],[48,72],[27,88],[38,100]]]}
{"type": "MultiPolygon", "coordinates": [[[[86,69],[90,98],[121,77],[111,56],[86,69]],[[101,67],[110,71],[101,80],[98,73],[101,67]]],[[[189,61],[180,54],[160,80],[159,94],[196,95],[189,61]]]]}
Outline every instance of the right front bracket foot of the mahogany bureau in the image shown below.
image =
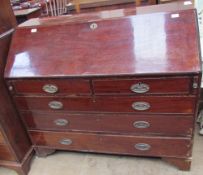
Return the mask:
{"type": "Polygon", "coordinates": [[[180,170],[189,171],[192,163],[192,159],[181,159],[181,158],[162,158],[166,162],[175,165],[180,170]]]}

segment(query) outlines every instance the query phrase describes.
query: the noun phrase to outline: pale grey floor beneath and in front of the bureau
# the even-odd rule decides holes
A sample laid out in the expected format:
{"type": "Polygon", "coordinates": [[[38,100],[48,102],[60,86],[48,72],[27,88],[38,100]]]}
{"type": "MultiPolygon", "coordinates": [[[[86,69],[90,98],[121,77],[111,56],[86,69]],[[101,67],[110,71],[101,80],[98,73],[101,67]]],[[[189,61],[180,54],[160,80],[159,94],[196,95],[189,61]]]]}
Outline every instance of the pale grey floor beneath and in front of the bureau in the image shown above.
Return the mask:
{"type": "MultiPolygon", "coordinates": [[[[17,174],[0,167],[0,175],[17,174]]],[[[47,158],[34,157],[29,175],[203,175],[203,136],[195,135],[189,172],[161,159],[57,152],[47,158]]]]}

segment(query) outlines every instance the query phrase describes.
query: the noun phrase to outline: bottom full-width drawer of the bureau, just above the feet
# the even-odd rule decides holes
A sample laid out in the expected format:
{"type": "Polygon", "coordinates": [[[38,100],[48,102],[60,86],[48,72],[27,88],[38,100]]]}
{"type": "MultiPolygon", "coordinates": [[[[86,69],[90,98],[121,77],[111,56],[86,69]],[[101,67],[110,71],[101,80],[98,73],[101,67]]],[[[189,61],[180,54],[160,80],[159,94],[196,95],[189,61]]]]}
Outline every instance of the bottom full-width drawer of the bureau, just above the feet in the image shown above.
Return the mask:
{"type": "Polygon", "coordinates": [[[34,145],[88,152],[146,156],[191,156],[191,140],[175,137],[100,135],[71,132],[29,132],[34,145]],[[174,146],[176,149],[174,149],[174,146]]]}

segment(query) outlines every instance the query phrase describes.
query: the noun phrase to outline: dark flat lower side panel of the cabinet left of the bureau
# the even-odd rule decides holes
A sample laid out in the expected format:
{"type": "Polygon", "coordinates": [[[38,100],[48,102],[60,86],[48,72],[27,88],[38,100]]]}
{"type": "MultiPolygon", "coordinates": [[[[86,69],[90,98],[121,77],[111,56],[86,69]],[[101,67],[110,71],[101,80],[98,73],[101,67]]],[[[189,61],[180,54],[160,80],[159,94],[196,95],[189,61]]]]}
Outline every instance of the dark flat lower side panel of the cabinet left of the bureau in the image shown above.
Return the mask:
{"type": "Polygon", "coordinates": [[[4,135],[7,137],[8,143],[15,152],[15,156],[21,161],[31,145],[22,123],[16,114],[16,110],[13,107],[3,80],[3,70],[6,62],[6,52],[8,51],[9,41],[10,36],[0,40],[0,46],[2,46],[0,47],[0,125],[2,132],[5,133],[4,135]]]}

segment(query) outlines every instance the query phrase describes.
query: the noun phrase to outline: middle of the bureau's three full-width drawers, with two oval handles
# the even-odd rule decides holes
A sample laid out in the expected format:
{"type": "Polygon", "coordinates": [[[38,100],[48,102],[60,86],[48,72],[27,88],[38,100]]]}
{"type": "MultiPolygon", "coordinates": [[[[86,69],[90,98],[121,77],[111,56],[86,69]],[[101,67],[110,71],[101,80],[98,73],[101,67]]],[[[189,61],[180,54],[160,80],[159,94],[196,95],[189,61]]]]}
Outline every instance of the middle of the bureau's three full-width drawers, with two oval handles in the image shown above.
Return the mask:
{"type": "Polygon", "coordinates": [[[28,129],[191,136],[192,116],[25,112],[28,129]]]}

